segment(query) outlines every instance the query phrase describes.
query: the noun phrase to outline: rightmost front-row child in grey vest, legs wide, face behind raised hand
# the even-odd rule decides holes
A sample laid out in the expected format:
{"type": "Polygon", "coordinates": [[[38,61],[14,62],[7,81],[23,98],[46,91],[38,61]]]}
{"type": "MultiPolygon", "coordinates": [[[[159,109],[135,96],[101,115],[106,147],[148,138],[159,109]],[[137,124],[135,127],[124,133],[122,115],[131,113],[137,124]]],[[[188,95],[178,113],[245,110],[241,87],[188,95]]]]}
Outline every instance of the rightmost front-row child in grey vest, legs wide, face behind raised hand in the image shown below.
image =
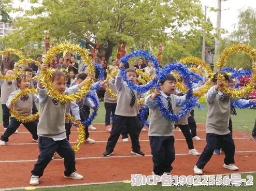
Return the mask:
{"type": "MultiPolygon", "coordinates": [[[[203,174],[202,169],[208,163],[212,154],[214,154],[217,141],[220,141],[222,149],[225,152],[223,167],[230,170],[238,170],[238,167],[234,165],[235,143],[228,128],[231,110],[230,104],[234,99],[230,99],[229,96],[222,92],[222,86],[225,84],[229,86],[230,79],[225,73],[221,74],[224,76],[225,81],[217,79],[217,74],[215,74],[212,80],[214,86],[206,94],[206,100],[208,102],[206,121],[207,144],[194,166],[195,174],[203,174]]],[[[239,99],[237,101],[244,104],[251,100],[239,99]]],[[[256,102],[255,99],[253,102],[256,102]]]]}

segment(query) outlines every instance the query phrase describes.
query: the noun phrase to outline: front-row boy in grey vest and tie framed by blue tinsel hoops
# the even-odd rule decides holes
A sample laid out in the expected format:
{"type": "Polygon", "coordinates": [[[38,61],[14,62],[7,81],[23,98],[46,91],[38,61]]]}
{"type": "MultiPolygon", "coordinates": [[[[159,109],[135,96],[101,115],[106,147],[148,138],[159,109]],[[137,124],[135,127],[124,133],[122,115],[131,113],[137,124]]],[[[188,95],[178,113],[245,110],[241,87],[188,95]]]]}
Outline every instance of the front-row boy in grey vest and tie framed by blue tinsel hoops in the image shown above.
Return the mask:
{"type": "Polygon", "coordinates": [[[176,79],[172,74],[168,74],[165,79],[160,80],[160,87],[161,90],[155,89],[154,93],[146,98],[146,105],[149,107],[150,113],[148,136],[153,155],[153,175],[170,174],[175,159],[174,123],[162,117],[155,97],[161,96],[162,102],[170,113],[173,113],[176,107],[181,107],[186,101],[186,95],[182,97],[174,95],[176,79]]]}

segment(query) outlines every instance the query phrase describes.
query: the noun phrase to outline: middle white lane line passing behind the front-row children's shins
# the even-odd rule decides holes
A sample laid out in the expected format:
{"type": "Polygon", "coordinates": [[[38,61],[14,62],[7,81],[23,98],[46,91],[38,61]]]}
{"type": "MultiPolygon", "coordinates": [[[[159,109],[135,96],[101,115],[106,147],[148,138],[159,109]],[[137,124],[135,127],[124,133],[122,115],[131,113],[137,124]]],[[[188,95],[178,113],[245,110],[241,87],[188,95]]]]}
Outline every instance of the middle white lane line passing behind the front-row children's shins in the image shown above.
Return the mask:
{"type": "MultiPolygon", "coordinates": [[[[235,153],[255,153],[256,151],[236,151],[235,153]]],[[[201,154],[201,153],[200,153],[201,154]]],[[[188,153],[176,153],[176,156],[182,156],[182,155],[190,155],[188,153]]],[[[152,156],[152,155],[145,155],[147,156],[152,156]]],[[[141,156],[135,156],[135,155],[125,155],[125,156],[109,156],[109,157],[104,157],[104,156],[91,156],[91,157],[77,157],[76,160],[88,160],[88,159],[108,159],[108,158],[130,158],[130,157],[141,157],[141,156]]],[[[60,158],[56,158],[54,160],[63,160],[60,158]]],[[[35,162],[37,159],[29,159],[29,160],[0,160],[0,163],[29,163],[29,162],[35,162]]]]}

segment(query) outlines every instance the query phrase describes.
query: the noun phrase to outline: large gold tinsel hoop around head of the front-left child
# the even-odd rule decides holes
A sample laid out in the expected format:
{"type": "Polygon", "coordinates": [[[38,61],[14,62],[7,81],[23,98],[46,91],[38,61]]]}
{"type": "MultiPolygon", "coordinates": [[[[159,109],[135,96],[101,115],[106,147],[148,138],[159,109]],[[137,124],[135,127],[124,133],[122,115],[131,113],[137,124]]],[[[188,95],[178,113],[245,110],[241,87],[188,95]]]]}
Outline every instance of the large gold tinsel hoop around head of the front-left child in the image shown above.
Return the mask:
{"type": "MultiPolygon", "coordinates": [[[[54,56],[60,52],[77,52],[77,54],[79,54],[82,58],[83,62],[87,63],[87,69],[89,71],[89,73],[94,72],[95,68],[92,64],[92,60],[89,56],[89,54],[87,53],[87,51],[83,48],[81,48],[79,45],[73,45],[70,43],[61,43],[53,48],[51,48],[47,54],[46,57],[44,58],[43,62],[44,63],[50,63],[51,60],[54,58],[54,56]]],[[[52,87],[52,82],[51,82],[51,76],[53,75],[53,73],[55,72],[55,69],[52,68],[48,68],[46,70],[42,70],[40,72],[40,82],[42,84],[42,86],[46,87],[46,89],[48,90],[48,95],[56,100],[59,100],[60,102],[70,102],[70,101],[75,101],[78,99],[81,99],[82,97],[84,97],[91,88],[91,85],[93,83],[93,79],[88,79],[87,83],[85,83],[81,89],[76,92],[75,94],[60,94],[58,91],[53,90],[52,87]]]]}

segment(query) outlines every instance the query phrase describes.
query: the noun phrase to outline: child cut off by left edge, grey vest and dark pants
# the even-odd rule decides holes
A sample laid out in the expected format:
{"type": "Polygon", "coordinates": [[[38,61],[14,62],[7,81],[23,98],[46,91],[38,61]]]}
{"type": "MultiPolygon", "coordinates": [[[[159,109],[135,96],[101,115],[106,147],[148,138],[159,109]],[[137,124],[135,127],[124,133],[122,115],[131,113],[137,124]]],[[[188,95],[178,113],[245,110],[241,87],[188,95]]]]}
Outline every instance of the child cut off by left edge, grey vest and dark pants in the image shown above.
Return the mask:
{"type": "MultiPolygon", "coordinates": [[[[5,76],[12,76],[14,72],[12,70],[7,70],[5,73],[5,76]]],[[[10,112],[9,109],[6,106],[6,102],[10,96],[10,94],[17,90],[17,81],[11,80],[1,80],[1,104],[2,104],[2,111],[3,111],[3,125],[6,129],[9,126],[9,118],[10,118],[10,112]]]]}

